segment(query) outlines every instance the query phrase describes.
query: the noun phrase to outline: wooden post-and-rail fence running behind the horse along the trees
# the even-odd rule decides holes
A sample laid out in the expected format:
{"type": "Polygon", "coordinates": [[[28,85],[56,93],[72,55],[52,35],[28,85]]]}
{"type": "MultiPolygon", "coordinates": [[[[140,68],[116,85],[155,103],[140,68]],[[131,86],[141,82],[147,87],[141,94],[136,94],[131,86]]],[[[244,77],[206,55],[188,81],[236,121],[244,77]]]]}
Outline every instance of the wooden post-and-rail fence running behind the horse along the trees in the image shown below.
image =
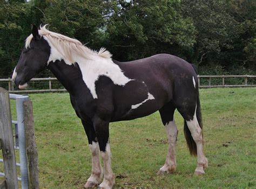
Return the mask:
{"type": "MultiPolygon", "coordinates": [[[[256,75],[198,75],[199,88],[213,88],[213,87],[255,87],[256,75]],[[225,83],[226,78],[241,78],[244,80],[242,84],[230,85],[225,83]],[[207,79],[207,85],[203,85],[200,80],[207,79]],[[212,85],[213,79],[221,79],[222,82],[219,85],[212,85]],[[248,82],[248,79],[254,80],[254,82],[248,82]]],[[[56,89],[52,87],[52,82],[58,81],[57,78],[33,78],[32,82],[48,82],[48,89],[29,89],[29,90],[15,90],[14,82],[11,78],[0,79],[1,82],[8,83],[8,90],[10,93],[40,93],[40,92],[66,92],[66,89],[56,89]]]]}

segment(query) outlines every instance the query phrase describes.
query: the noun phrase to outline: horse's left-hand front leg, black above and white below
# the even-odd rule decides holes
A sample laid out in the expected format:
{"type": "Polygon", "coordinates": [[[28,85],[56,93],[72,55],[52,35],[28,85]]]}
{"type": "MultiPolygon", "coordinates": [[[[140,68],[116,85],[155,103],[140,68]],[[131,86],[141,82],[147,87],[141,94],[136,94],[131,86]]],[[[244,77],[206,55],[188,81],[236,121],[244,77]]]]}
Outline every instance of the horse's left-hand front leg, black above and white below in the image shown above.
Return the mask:
{"type": "Polygon", "coordinates": [[[92,156],[92,173],[84,187],[91,188],[99,184],[102,173],[102,168],[99,163],[99,144],[92,122],[82,120],[82,123],[88,138],[89,148],[92,156]]]}

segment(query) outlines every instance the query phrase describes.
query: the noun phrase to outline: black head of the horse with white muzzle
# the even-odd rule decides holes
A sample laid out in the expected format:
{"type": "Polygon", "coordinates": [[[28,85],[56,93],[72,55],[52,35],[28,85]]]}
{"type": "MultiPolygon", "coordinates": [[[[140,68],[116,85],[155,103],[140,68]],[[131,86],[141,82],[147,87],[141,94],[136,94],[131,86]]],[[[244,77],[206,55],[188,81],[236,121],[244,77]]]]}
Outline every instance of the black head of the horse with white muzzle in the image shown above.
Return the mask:
{"type": "Polygon", "coordinates": [[[32,26],[32,36],[28,39],[12,75],[12,80],[20,89],[24,89],[29,80],[46,68],[51,51],[48,42],[39,35],[35,25],[32,26]]]}

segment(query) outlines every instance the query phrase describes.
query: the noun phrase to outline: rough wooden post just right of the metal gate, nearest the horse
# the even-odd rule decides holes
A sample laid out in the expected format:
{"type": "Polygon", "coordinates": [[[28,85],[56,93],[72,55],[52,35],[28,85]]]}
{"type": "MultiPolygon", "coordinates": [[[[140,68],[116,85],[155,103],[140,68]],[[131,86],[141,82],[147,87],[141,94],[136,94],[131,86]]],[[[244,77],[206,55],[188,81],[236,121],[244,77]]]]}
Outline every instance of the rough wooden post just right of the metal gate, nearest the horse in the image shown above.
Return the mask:
{"type": "Polygon", "coordinates": [[[39,188],[38,155],[35,139],[35,124],[33,120],[32,102],[24,101],[24,121],[26,130],[26,155],[29,167],[29,185],[31,189],[39,188]]]}

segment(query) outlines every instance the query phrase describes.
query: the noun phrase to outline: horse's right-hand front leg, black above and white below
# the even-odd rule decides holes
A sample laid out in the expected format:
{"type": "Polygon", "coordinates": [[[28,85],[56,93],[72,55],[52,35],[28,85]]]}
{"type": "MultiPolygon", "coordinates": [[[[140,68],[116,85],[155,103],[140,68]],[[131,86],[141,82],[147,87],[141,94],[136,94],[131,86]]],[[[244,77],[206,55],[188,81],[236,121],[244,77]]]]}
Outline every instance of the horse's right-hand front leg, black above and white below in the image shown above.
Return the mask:
{"type": "Polygon", "coordinates": [[[93,119],[96,136],[99,142],[100,155],[104,163],[104,179],[100,188],[112,188],[114,185],[114,173],[111,168],[111,152],[109,145],[109,122],[97,117],[93,119]]]}

